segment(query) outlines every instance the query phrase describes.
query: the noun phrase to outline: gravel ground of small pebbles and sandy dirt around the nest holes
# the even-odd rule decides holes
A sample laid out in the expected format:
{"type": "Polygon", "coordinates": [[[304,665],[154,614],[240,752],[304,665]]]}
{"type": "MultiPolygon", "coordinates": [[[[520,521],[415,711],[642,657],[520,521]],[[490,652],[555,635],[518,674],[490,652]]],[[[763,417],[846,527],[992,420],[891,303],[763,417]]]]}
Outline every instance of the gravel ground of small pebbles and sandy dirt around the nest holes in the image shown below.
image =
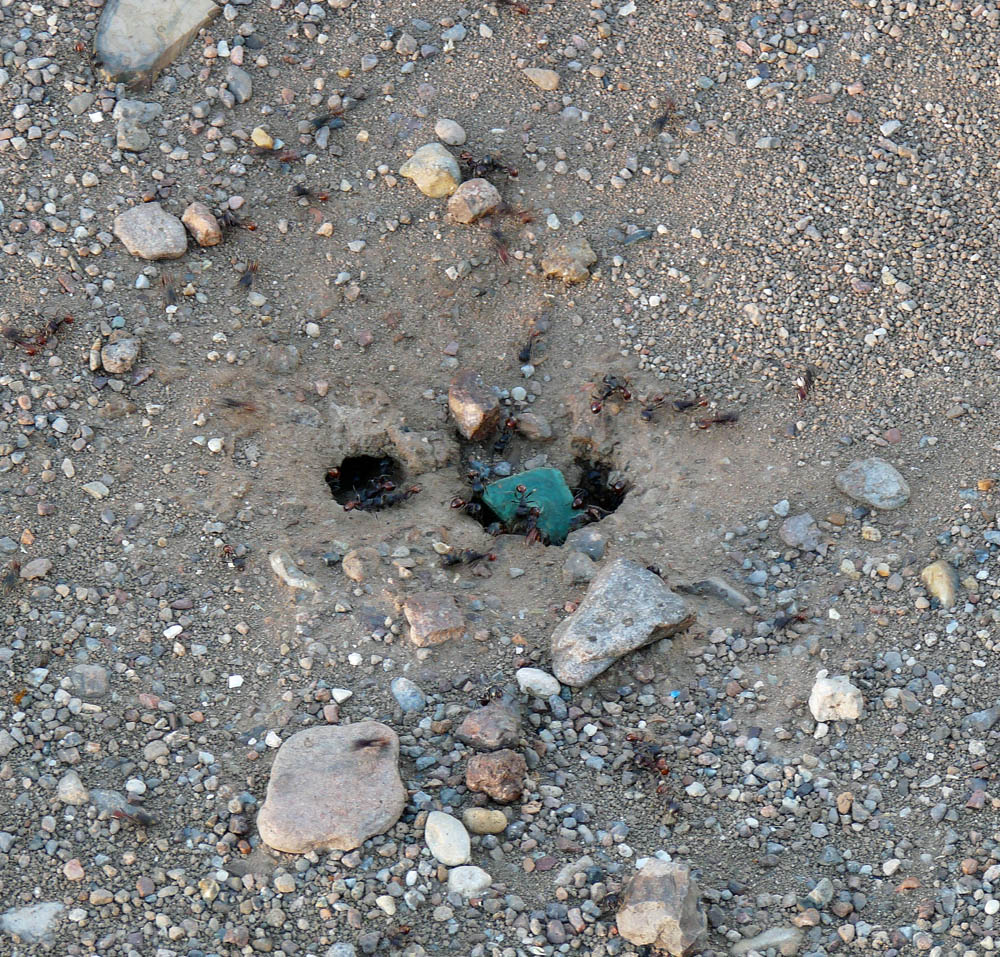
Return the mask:
{"type": "Polygon", "coordinates": [[[995,949],[1000,12],[524,3],[228,5],[132,92],[94,71],[99,0],[0,4],[3,953],[625,957],[655,856],[700,888],[692,953],[995,949]],[[510,215],[457,224],[401,175],[439,136],[516,168],[485,170],[510,215]],[[143,201],[230,225],[147,261],[115,236],[143,201]],[[584,238],[590,277],[545,278],[584,238]],[[460,441],[459,369],[531,429],[460,441]],[[633,398],[595,415],[606,374],[633,398]],[[386,449],[421,491],[342,509],[327,470],[386,449]],[[630,487],[589,556],[448,507],[469,455],[581,454],[630,487]],[[838,491],[871,455],[901,508],[838,491]],[[524,692],[615,558],[695,624],[524,692]],[[465,635],[417,647],[429,591],[465,635]],[[816,718],[821,670],[857,720],[816,718]],[[458,730],[496,701],[505,804],[458,730]],[[367,720],[399,735],[399,820],[268,848],[282,743],[367,720]],[[475,808],[507,823],[468,895],[425,825],[475,808]]]}

